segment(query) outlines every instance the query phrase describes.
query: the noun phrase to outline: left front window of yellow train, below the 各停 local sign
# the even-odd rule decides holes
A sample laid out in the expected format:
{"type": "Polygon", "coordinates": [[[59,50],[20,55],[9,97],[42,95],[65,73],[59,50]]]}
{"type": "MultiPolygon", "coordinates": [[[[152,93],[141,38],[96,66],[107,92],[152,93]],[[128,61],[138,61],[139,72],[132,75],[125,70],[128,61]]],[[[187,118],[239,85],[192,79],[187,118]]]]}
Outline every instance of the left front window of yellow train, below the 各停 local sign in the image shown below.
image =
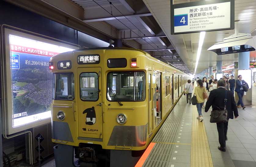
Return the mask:
{"type": "Polygon", "coordinates": [[[73,100],[75,96],[74,74],[58,73],[55,77],[55,100],[73,100]]]}

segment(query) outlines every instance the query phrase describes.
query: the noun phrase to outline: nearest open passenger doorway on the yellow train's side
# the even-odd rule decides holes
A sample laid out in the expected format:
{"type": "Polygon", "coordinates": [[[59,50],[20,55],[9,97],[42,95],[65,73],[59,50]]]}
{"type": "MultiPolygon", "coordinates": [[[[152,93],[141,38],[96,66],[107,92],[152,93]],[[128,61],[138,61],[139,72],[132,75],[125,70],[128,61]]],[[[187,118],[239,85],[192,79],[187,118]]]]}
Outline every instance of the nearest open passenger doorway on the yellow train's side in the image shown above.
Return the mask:
{"type": "Polygon", "coordinates": [[[157,95],[157,99],[156,99],[156,123],[159,123],[161,120],[161,111],[162,111],[162,106],[161,106],[161,98],[162,98],[162,85],[161,85],[161,73],[160,72],[156,72],[156,95],[157,95]]]}

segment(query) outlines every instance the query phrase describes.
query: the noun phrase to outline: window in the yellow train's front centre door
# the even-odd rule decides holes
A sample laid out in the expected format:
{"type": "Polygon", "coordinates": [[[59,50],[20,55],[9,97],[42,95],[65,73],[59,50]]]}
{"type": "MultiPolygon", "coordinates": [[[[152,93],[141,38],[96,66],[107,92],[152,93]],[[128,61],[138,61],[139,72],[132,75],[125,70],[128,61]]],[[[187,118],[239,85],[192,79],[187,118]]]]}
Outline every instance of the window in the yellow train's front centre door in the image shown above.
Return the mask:
{"type": "Polygon", "coordinates": [[[98,74],[85,72],[80,74],[80,98],[83,101],[97,101],[99,99],[98,74]]]}

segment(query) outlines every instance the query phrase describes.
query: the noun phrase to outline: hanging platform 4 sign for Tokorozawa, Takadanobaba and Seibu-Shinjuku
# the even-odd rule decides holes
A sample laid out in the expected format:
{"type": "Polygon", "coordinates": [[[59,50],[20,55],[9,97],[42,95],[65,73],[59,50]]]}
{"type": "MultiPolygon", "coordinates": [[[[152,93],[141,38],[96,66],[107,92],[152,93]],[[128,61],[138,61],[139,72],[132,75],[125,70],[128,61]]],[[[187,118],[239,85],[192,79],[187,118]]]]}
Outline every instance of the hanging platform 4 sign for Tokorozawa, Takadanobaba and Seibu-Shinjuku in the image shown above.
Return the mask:
{"type": "Polygon", "coordinates": [[[234,1],[215,0],[172,4],[171,34],[234,29],[234,1]]]}

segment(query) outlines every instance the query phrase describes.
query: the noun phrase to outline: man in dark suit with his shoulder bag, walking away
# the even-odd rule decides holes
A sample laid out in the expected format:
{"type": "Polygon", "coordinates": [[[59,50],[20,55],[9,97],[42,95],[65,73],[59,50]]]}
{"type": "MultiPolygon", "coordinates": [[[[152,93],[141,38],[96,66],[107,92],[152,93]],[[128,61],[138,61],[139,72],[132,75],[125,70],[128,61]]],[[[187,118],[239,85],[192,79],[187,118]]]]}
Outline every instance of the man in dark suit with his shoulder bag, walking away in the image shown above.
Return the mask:
{"type": "Polygon", "coordinates": [[[219,135],[220,151],[226,151],[226,140],[228,131],[229,119],[238,117],[238,111],[234,94],[230,90],[225,89],[225,81],[223,79],[218,81],[218,89],[214,89],[210,92],[209,98],[206,102],[205,112],[207,112],[212,106],[211,111],[211,123],[217,124],[217,130],[219,135]],[[221,114],[225,113],[225,114],[221,114]]]}

